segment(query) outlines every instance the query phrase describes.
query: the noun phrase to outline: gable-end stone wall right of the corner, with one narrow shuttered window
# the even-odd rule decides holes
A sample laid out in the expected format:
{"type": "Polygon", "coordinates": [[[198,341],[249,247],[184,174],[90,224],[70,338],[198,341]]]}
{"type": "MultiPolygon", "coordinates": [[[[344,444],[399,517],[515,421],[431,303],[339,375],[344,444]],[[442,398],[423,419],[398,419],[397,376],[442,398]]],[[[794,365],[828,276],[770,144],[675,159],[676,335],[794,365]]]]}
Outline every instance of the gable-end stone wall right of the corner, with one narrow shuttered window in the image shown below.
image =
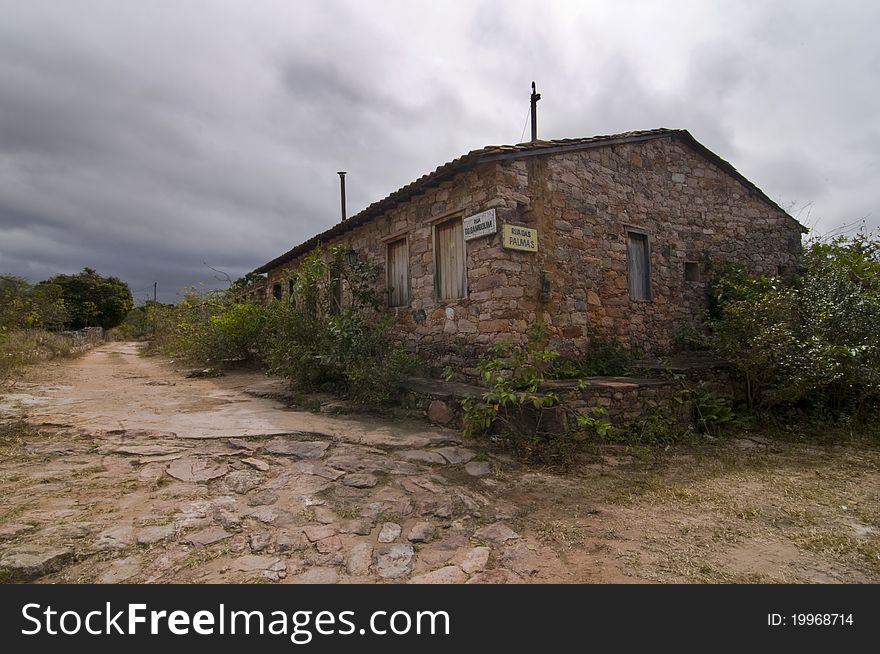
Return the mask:
{"type": "Polygon", "coordinates": [[[563,345],[597,331],[646,352],[668,350],[707,308],[710,262],[763,274],[794,272],[802,228],[686,145],[659,139],[532,160],[524,192],[540,199],[540,231],[553,294],[549,324],[563,345]],[[650,302],[629,297],[626,230],[650,243],[650,302]],[[552,255],[550,254],[552,253],[552,255]],[[699,281],[685,279],[696,264],[699,281]]]}

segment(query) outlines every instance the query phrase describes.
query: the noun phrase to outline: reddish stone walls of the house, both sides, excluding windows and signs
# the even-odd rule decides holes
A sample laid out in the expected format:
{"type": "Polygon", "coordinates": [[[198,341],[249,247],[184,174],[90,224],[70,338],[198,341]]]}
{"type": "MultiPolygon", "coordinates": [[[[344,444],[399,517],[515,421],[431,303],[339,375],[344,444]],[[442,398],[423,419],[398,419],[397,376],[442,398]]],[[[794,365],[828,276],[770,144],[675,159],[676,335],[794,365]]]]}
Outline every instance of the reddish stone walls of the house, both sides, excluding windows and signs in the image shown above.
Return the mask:
{"type": "MultiPolygon", "coordinates": [[[[523,340],[541,321],[554,346],[583,351],[593,334],[646,352],[665,351],[698,324],[709,261],[737,261],[776,274],[796,266],[801,226],[690,147],[670,138],[481,164],[354,228],[346,242],[385,267],[386,245],[409,244],[411,303],[391,308],[401,339],[438,365],[464,366],[485,346],[523,340]],[[434,290],[434,226],[495,208],[499,233],[468,241],[468,297],[434,290]],[[501,225],[538,229],[537,253],[501,247],[501,225]],[[626,228],[650,242],[650,302],[630,299],[626,228]],[[542,302],[541,276],[550,279],[542,302]]],[[[281,283],[298,260],[268,273],[281,283]]],[[[384,279],[382,281],[384,285],[384,279]]],[[[472,369],[468,372],[473,373],[472,369]]]]}

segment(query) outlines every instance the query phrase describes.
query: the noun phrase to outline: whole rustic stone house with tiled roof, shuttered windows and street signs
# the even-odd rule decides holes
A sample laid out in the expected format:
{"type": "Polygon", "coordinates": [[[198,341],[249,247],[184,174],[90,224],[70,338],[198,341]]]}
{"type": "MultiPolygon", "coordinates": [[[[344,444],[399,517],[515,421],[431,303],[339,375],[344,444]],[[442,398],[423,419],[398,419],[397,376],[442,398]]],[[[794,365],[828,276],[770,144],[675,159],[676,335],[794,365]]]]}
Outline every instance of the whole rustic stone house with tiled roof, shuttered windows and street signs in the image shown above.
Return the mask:
{"type": "Polygon", "coordinates": [[[428,355],[469,358],[538,321],[563,351],[602,334],[658,352],[701,320],[708,262],[784,274],[804,231],[689,132],[657,129],[474,150],[256,272],[283,299],[302,257],[347,243],[428,355]]]}

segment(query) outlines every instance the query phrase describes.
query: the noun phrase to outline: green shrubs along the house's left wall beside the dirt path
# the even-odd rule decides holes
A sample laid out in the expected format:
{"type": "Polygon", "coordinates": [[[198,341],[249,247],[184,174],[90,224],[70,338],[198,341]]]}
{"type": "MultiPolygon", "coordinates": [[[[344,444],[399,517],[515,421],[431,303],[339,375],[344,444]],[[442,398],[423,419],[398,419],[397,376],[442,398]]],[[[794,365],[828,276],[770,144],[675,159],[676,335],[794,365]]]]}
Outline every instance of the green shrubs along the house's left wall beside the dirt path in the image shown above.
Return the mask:
{"type": "Polygon", "coordinates": [[[349,261],[344,245],[318,249],[284,287],[291,292],[268,305],[227,292],[193,289],[177,306],[148,307],[154,325],[149,351],[210,366],[232,361],[265,364],[298,389],[325,390],[364,405],[397,398],[411,355],[390,334],[390,316],[375,290],[379,270],[349,261]],[[345,288],[340,305],[328,280],[345,288]]]}

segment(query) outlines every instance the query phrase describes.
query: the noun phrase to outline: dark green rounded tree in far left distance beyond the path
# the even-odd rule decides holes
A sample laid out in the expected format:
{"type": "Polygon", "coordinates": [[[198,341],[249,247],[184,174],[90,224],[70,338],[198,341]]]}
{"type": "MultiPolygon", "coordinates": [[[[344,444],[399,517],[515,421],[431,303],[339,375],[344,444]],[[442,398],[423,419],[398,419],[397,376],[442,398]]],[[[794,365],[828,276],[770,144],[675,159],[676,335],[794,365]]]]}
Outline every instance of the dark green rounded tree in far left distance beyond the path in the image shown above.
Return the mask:
{"type": "Polygon", "coordinates": [[[68,329],[111,329],[122,323],[134,304],[128,284],[116,277],[102,277],[92,268],[83,268],[78,275],[56,275],[40,282],[36,289],[51,297],[50,285],[60,288],[68,329]]]}

